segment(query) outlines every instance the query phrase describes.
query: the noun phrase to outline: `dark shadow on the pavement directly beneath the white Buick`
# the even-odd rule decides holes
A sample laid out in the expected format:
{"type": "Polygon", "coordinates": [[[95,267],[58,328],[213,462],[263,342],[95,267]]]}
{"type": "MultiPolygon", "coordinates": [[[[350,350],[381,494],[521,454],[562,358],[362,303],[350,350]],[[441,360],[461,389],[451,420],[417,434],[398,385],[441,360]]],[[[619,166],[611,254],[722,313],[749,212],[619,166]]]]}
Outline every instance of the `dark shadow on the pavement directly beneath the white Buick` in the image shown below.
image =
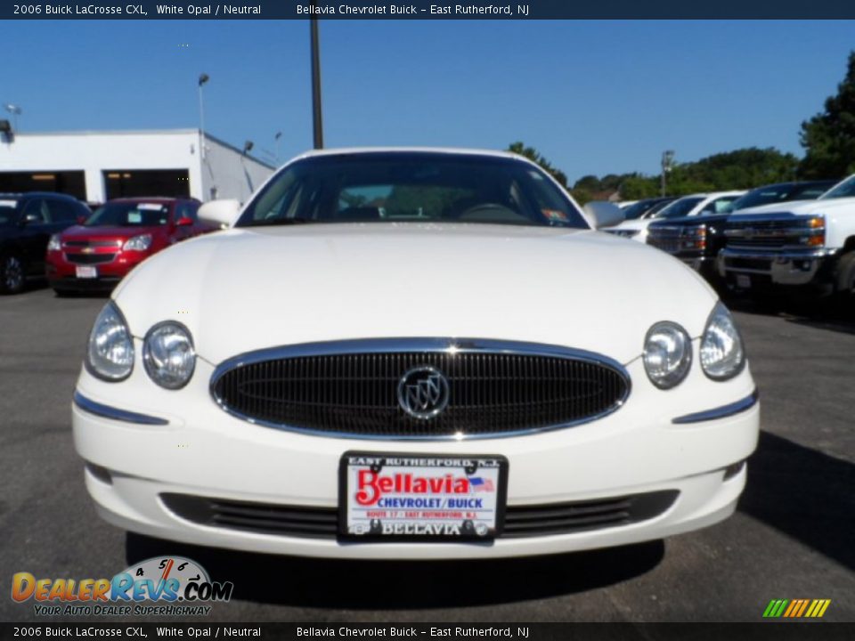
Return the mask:
{"type": "Polygon", "coordinates": [[[416,609],[513,603],[614,585],[651,571],[664,542],[574,554],[477,561],[343,561],[273,556],[128,533],[127,563],[185,556],[234,598],[332,609],[416,609]],[[283,580],[287,579],[287,580],[283,580]]]}

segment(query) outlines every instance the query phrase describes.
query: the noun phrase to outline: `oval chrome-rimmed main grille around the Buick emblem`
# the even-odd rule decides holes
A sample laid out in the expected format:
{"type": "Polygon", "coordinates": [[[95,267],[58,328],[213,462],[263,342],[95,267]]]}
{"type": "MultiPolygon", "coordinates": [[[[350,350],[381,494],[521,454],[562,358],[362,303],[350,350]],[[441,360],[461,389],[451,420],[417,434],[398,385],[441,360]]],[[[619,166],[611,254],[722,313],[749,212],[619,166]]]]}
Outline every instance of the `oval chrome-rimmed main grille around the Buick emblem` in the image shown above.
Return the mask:
{"type": "Polygon", "coordinates": [[[618,409],[623,367],[553,345],[472,339],[385,339],[296,345],[224,362],[211,393],[265,426],[369,438],[487,437],[572,426],[618,409]],[[399,406],[401,377],[432,367],[449,386],[435,418],[399,406]]]}

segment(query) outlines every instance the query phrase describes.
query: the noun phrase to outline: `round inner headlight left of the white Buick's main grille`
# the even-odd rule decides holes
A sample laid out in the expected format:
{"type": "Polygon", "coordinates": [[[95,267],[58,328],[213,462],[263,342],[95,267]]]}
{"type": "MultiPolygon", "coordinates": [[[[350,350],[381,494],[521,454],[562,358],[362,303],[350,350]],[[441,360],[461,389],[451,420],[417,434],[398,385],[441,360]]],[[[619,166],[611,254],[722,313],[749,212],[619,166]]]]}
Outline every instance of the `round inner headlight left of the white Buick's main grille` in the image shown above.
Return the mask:
{"type": "Polygon", "coordinates": [[[149,329],[142,342],[142,362],[151,380],[167,389],[187,385],[196,368],[196,351],[190,330],[166,321],[149,329]]]}

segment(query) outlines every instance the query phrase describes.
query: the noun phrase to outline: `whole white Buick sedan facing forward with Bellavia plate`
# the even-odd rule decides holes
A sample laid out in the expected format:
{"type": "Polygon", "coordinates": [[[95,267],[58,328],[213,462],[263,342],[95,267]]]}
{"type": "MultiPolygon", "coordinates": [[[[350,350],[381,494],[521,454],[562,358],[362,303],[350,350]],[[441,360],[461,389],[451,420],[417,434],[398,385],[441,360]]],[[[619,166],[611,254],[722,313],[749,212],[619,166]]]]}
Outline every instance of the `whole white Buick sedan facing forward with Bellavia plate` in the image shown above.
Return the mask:
{"type": "MultiPolygon", "coordinates": [[[[613,207],[613,209],[616,209],[613,207]]],[[[73,421],[101,515],[305,556],[489,557],[721,521],[759,405],[688,267],[505,153],[340,150],[152,256],[73,421]]]]}

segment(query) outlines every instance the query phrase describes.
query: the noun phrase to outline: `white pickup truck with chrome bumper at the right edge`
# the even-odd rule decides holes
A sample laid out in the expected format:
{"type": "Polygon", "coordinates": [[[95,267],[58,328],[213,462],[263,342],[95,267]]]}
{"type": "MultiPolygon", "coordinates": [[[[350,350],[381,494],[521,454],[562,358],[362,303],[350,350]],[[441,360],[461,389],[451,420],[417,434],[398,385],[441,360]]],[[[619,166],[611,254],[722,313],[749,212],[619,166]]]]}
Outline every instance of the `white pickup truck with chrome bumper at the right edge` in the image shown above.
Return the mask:
{"type": "Polygon", "coordinates": [[[855,175],[817,200],[740,209],[724,233],[717,266],[737,288],[855,294],[855,175]]]}

